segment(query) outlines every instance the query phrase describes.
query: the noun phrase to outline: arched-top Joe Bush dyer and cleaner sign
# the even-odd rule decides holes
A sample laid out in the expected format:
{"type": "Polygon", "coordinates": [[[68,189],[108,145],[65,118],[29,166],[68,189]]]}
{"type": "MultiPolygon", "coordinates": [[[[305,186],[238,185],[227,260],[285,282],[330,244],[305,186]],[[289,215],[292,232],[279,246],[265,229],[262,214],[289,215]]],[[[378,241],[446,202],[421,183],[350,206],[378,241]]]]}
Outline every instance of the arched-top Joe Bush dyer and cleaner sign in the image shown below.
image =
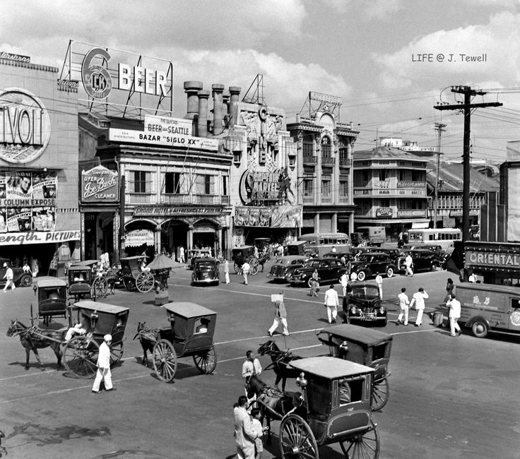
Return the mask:
{"type": "Polygon", "coordinates": [[[81,172],[82,203],[114,203],[119,201],[117,172],[96,166],[81,172]]]}

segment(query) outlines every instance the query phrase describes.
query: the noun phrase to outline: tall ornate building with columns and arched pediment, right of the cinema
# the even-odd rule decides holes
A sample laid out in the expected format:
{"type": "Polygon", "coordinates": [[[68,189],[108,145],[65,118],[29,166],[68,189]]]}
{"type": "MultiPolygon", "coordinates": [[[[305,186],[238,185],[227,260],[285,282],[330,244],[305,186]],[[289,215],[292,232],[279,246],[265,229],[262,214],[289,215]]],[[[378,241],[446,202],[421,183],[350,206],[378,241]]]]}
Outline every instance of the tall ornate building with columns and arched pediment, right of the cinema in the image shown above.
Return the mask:
{"type": "Polygon", "coordinates": [[[297,145],[302,233],[350,234],[355,208],[352,148],[359,132],[352,129],[352,124],[340,123],[326,109],[310,118],[297,115],[296,122],[287,126],[297,145]]]}

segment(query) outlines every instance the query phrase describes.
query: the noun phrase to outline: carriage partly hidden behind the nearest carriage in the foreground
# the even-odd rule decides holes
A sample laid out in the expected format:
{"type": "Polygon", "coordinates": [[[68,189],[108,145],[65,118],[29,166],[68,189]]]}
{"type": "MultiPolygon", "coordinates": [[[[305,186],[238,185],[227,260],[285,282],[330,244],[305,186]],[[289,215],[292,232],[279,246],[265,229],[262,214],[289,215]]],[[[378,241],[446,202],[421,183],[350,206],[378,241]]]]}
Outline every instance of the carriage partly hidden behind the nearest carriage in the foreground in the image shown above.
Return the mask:
{"type": "Polygon", "coordinates": [[[391,335],[355,325],[336,325],[318,332],[318,339],[329,346],[332,357],[350,360],[374,369],[372,410],[381,410],[388,402],[391,335]]]}

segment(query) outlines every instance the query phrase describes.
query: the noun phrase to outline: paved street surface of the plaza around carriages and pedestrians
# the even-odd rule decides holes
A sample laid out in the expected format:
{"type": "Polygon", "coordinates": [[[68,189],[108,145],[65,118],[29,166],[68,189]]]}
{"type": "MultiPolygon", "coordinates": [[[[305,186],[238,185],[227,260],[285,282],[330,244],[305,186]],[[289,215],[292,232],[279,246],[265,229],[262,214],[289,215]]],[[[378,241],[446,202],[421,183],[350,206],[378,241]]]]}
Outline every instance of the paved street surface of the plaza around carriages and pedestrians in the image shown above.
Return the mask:
{"type": "MultiPolygon", "coordinates": [[[[266,271],[269,265],[266,266],[266,271]]],[[[8,458],[228,458],[235,453],[232,404],[243,393],[240,375],[244,354],[268,340],[273,306],[270,295],[283,290],[290,336],[276,335],[282,348],[295,354],[327,352],[315,330],[328,326],[323,307],[324,288],[317,299],[307,289],[273,285],[266,273],[242,285],[231,275],[230,285],[191,287],[191,271],[175,270],[170,299],[192,301],[218,313],[214,374],[199,374],[191,358],[179,359],[175,382],[165,384],[141,364],[141,346],[132,340],[138,321],[165,326],[165,311],[153,305],[153,293],[117,290],[105,302],[129,306],[124,364],[113,369],[117,391],[90,392],[91,380],[70,378],[56,371],[54,353],[40,351],[47,370],[23,369],[25,352],[18,338],[7,338],[11,318],[29,323],[32,289],[0,292],[0,429],[6,434],[8,458]],[[111,454],[112,453],[112,454],[111,454]]],[[[222,276],[223,277],[223,276],[222,276]]],[[[430,293],[427,310],[444,298],[445,271],[398,275],[384,279],[389,325],[394,335],[390,371],[390,399],[375,412],[381,439],[380,458],[518,458],[520,398],[519,340],[473,338],[464,331],[451,338],[425,316],[422,328],[397,327],[396,295],[406,286],[411,297],[418,287],[430,293]]],[[[340,288],[336,287],[339,291],[340,288]]],[[[412,311],[410,318],[415,318],[412,311]]],[[[267,366],[268,357],[261,357],[267,366]]],[[[273,383],[274,374],[262,378],[273,383]]],[[[295,390],[293,381],[289,390],[295,390]]],[[[279,457],[278,422],[273,443],[263,459],[279,457]]],[[[341,458],[336,446],[321,448],[321,458],[341,458]]]]}

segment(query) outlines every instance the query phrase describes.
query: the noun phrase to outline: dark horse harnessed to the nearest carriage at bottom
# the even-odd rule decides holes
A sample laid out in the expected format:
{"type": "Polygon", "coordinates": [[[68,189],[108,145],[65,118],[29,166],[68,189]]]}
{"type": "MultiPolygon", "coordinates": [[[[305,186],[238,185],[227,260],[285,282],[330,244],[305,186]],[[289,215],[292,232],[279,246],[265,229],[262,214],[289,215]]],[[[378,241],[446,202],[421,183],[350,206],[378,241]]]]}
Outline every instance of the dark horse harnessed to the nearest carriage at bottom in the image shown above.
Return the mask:
{"type": "Polygon", "coordinates": [[[280,391],[276,387],[268,386],[255,375],[246,378],[246,391],[248,398],[252,398],[253,394],[256,395],[256,403],[258,403],[261,410],[262,424],[264,423],[264,417],[266,418],[268,443],[271,443],[271,419],[282,419],[290,412],[294,412],[304,419],[307,415],[307,410],[303,406],[301,392],[280,391]]]}

